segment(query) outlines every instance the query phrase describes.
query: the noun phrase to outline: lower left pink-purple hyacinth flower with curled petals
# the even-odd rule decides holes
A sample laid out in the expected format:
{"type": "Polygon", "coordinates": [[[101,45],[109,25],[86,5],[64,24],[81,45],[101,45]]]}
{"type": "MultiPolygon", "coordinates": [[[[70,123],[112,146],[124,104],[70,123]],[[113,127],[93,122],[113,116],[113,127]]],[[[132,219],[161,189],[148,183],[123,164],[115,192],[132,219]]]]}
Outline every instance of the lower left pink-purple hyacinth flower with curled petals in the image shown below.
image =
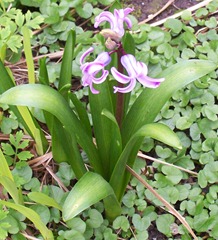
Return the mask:
{"type": "Polygon", "coordinates": [[[94,51],[93,47],[90,47],[84,52],[80,58],[80,69],[82,70],[82,85],[89,86],[93,94],[98,94],[99,91],[93,87],[93,83],[100,84],[104,82],[108,76],[108,71],[104,69],[110,61],[111,57],[108,52],[102,52],[93,62],[84,63],[85,58],[94,51]],[[96,77],[98,73],[101,73],[99,77],[96,77]]]}

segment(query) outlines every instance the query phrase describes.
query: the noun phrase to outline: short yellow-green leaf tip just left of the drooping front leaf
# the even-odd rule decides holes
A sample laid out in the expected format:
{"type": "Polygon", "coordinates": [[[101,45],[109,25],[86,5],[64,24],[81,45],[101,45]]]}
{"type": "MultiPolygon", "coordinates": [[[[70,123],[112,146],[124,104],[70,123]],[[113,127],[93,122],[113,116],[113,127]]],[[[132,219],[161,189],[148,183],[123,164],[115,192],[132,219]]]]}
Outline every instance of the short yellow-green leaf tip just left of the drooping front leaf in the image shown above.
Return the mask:
{"type": "Polygon", "coordinates": [[[42,205],[46,205],[49,207],[54,207],[54,208],[59,209],[60,211],[62,210],[61,206],[53,198],[47,196],[44,193],[30,192],[28,194],[28,197],[36,203],[40,203],[42,205]]]}

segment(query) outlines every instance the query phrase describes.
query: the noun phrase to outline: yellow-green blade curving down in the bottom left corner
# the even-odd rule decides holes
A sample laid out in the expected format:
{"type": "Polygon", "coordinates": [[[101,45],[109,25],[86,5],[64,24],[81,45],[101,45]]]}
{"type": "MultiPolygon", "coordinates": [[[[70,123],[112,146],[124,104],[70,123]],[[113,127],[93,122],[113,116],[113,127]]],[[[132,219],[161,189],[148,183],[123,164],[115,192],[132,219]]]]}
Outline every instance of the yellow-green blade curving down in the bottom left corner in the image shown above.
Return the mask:
{"type": "Polygon", "coordinates": [[[53,240],[54,239],[52,232],[45,226],[45,224],[42,222],[39,215],[35,211],[33,211],[32,209],[27,208],[25,206],[11,203],[11,202],[6,202],[3,200],[0,200],[0,203],[9,208],[13,208],[16,211],[23,214],[24,216],[26,216],[30,221],[33,222],[35,227],[41,232],[41,234],[45,240],[53,240]]]}

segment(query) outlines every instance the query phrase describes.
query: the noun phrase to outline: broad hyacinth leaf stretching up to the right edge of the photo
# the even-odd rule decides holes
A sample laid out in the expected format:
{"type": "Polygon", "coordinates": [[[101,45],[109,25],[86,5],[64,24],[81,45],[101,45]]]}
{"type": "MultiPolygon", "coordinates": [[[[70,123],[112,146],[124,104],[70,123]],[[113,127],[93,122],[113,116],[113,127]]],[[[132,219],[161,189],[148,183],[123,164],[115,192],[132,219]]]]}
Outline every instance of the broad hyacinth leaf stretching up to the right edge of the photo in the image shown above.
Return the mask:
{"type": "Polygon", "coordinates": [[[210,73],[216,67],[211,61],[189,60],[164,70],[160,75],[165,77],[165,81],[156,89],[145,89],[127,114],[122,127],[124,145],[140,127],[154,121],[174,92],[210,73]]]}

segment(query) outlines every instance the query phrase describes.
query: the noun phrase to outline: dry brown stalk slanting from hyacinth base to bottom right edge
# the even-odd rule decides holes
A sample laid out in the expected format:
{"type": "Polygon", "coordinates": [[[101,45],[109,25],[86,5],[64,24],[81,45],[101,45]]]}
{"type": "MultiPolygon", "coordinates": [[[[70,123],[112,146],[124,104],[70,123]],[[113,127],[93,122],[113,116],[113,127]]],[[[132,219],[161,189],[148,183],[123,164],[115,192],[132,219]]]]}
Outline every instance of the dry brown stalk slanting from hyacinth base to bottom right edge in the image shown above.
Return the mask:
{"type": "Polygon", "coordinates": [[[179,221],[184,225],[184,227],[189,231],[189,233],[192,235],[192,237],[197,240],[197,236],[189,226],[188,222],[185,220],[185,218],[170,204],[168,203],[162,196],[160,196],[153,187],[151,187],[140,175],[138,175],[131,167],[126,165],[126,169],[136,178],[138,179],[154,196],[159,199],[166,208],[169,209],[170,213],[172,213],[179,221]]]}

